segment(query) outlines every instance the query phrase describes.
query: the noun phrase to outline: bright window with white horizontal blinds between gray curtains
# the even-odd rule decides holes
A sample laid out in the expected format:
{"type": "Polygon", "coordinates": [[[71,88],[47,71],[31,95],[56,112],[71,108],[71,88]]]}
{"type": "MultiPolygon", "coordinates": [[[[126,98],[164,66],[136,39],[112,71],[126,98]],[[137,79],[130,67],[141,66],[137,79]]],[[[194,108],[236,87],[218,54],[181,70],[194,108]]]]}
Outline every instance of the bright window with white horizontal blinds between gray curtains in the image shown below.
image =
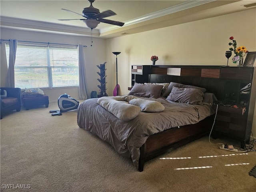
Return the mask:
{"type": "MultiPolygon", "coordinates": [[[[9,44],[6,44],[9,64],[9,44]]],[[[15,87],[56,88],[79,85],[77,47],[18,44],[15,87]]]]}

